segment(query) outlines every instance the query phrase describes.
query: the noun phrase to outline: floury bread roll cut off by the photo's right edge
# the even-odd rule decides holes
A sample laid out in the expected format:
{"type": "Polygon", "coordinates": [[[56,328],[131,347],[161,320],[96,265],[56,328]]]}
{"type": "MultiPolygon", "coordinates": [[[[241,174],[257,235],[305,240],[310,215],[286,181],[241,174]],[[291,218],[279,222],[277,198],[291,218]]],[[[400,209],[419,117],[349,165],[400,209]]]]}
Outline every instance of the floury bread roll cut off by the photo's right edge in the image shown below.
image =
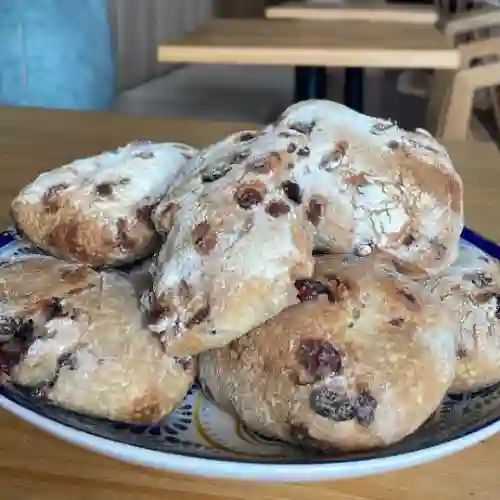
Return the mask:
{"type": "Polygon", "coordinates": [[[457,365],[451,392],[500,381],[500,269],[498,262],[464,243],[458,259],[426,286],[456,317],[457,365]]]}

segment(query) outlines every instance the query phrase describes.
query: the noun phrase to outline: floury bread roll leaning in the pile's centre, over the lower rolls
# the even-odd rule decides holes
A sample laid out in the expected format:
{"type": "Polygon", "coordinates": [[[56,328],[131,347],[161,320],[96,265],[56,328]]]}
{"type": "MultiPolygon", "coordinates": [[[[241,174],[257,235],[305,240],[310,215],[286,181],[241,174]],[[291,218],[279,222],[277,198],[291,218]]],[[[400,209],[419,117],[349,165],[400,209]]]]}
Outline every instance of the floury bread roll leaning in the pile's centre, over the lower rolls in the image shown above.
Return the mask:
{"type": "Polygon", "coordinates": [[[311,275],[312,234],[286,194],[258,169],[232,168],[242,158],[212,162],[254,137],[236,134],[203,151],[199,174],[153,213],[168,237],[143,304],[169,355],[194,355],[244,335],[297,303],[294,282],[311,275]]]}

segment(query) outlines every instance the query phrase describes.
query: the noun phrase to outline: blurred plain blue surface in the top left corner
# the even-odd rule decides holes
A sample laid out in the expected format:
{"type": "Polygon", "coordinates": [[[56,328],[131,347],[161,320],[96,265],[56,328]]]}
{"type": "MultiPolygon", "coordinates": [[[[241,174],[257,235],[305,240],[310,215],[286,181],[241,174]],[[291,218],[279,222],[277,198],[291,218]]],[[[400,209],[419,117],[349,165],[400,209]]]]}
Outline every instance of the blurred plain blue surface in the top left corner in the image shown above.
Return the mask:
{"type": "Polygon", "coordinates": [[[0,0],[0,105],[105,109],[114,86],[105,0],[0,0]]]}

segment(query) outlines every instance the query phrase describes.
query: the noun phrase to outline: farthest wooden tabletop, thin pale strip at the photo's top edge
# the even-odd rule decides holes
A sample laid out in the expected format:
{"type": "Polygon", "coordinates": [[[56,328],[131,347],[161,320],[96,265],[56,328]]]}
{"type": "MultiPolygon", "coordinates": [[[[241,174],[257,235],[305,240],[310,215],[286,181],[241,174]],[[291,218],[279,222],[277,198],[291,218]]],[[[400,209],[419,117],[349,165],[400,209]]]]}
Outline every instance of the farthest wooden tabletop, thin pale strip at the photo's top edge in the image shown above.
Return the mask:
{"type": "Polygon", "coordinates": [[[302,19],[309,21],[370,21],[433,25],[439,15],[433,6],[379,4],[360,2],[353,5],[284,2],[266,9],[267,19],[302,19]]]}

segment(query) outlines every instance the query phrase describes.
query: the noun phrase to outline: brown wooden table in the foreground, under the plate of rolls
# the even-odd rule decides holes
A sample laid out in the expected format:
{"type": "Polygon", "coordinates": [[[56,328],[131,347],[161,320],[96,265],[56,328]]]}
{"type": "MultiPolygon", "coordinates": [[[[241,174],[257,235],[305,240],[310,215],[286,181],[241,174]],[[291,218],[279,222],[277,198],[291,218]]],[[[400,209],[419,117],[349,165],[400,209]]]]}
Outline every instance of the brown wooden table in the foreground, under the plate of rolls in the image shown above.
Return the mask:
{"type": "MultiPolygon", "coordinates": [[[[238,123],[0,108],[0,209],[42,170],[134,139],[201,146],[238,123]]],[[[448,144],[466,186],[467,222],[500,241],[500,154],[491,143],[448,144]]],[[[66,444],[0,411],[3,500],[497,500],[500,436],[397,473],[316,484],[200,479],[123,464],[66,444]]]]}

